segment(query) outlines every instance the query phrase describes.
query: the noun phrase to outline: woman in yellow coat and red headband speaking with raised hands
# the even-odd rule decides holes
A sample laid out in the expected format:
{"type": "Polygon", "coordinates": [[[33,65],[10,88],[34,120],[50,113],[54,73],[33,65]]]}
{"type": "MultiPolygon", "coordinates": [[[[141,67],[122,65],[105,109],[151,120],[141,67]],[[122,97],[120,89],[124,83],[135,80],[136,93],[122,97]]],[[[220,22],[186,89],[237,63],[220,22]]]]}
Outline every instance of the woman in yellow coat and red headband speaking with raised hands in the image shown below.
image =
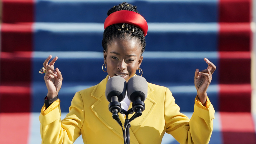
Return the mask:
{"type": "MultiPolygon", "coordinates": [[[[102,70],[108,76],[98,85],[77,92],[70,112],[62,121],[58,99],[62,76],[60,70],[54,68],[57,57],[48,64],[50,55],[43,63],[48,93],[39,116],[42,143],[73,143],[81,134],[84,143],[123,143],[122,129],[108,110],[106,82],[113,76],[121,76],[128,82],[136,70],[141,70],[147,25],[136,6],[124,2],[108,11],[104,26],[102,46],[106,69],[102,66],[102,70]],[[127,20],[127,16],[137,20],[127,20]]],[[[195,71],[197,96],[191,119],[179,112],[168,88],[148,83],[146,108],[142,116],[131,122],[131,143],[161,143],[165,132],[179,143],[209,142],[215,111],[206,91],[216,67],[208,59],[204,60],[207,69],[195,71]]],[[[131,108],[130,102],[123,104],[131,108]]],[[[125,118],[121,114],[119,117],[124,123],[125,118]]]]}

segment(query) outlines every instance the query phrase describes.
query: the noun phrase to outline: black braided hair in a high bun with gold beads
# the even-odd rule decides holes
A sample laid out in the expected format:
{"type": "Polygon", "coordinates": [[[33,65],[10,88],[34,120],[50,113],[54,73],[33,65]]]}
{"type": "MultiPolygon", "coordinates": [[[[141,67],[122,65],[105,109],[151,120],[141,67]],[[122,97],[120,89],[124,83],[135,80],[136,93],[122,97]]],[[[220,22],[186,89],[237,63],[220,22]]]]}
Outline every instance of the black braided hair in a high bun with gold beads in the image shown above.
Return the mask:
{"type": "MultiPolygon", "coordinates": [[[[140,14],[136,6],[123,2],[109,9],[107,15],[109,16],[110,14],[119,10],[130,10],[132,12],[136,12],[140,14]]],[[[142,45],[141,54],[145,51],[146,41],[145,41],[143,31],[134,25],[122,23],[122,24],[114,24],[106,27],[103,33],[103,40],[102,40],[103,49],[106,51],[107,46],[111,44],[111,42],[113,42],[113,40],[116,38],[120,38],[120,39],[129,38],[130,40],[136,38],[138,41],[140,41],[142,45]]]]}

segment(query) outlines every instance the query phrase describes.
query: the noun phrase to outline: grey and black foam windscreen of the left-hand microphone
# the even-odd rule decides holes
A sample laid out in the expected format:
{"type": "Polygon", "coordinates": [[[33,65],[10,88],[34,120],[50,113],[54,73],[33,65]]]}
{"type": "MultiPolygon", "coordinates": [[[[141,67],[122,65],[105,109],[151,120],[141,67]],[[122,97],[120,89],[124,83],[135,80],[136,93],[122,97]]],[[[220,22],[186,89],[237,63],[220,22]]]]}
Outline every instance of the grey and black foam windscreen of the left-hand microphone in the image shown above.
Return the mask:
{"type": "Polygon", "coordinates": [[[106,90],[105,90],[106,99],[109,102],[111,102],[111,97],[117,96],[119,102],[123,101],[126,94],[126,86],[127,86],[127,83],[123,77],[121,76],[111,77],[106,84],[106,90]]]}

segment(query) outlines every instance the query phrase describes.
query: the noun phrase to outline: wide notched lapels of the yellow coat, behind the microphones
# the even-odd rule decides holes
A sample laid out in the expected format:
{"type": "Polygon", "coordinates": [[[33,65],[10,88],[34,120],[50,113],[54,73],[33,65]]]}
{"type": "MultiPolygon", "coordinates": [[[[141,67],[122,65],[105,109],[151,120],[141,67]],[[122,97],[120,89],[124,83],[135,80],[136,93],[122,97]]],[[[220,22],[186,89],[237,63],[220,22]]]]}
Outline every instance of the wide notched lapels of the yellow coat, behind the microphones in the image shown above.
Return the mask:
{"type": "MultiPolygon", "coordinates": [[[[111,129],[116,135],[123,139],[123,132],[121,126],[112,118],[112,114],[108,110],[109,102],[106,100],[105,97],[105,89],[106,83],[108,81],[108,76],[104,80],[102,80],[98,85],[95,86],[94,90],[91,93],[91,96],[98,99],[92,106],[91,109],[94,114],[104,123],[109,129],[111,129]]],[[[147,98],[144,101],[145,103],[145,110],[142,112],[142,116],[134,119],[131,121],[131,128],[130,128],[130,142],[131,143],[138,143],[134,133],[141,127],[144,121],[148,118],[152,110],[154,109],[156,102],[149,97],[149,95],[153,92],[153,88],[148,85],[148,94],[147,98]]],[[[129,109],[132,108],[132,103],[129,106],[129,109]]],[[[133,114],[129,115],[129,118],[132,117],[133,114]]],[[[125,117],[119,113],[119,118],[124,124],[125,117]]]]}

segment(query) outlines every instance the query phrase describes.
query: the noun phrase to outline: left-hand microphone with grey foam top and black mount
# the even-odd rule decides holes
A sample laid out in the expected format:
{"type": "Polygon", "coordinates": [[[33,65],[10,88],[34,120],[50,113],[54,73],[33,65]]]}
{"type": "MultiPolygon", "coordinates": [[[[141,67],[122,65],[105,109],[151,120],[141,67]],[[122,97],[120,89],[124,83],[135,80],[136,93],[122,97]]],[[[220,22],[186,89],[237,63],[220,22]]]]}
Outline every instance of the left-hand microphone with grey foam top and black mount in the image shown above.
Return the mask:
{"type": "Polygon", "coordinates": [[[112,117],[122,126],[118,113],[121,112],[121,101],[125,98],[127,83],[123,77],[113,76],[107,84],[105,95],[109,103],[109,111],[112,113],[112,117]]]}

